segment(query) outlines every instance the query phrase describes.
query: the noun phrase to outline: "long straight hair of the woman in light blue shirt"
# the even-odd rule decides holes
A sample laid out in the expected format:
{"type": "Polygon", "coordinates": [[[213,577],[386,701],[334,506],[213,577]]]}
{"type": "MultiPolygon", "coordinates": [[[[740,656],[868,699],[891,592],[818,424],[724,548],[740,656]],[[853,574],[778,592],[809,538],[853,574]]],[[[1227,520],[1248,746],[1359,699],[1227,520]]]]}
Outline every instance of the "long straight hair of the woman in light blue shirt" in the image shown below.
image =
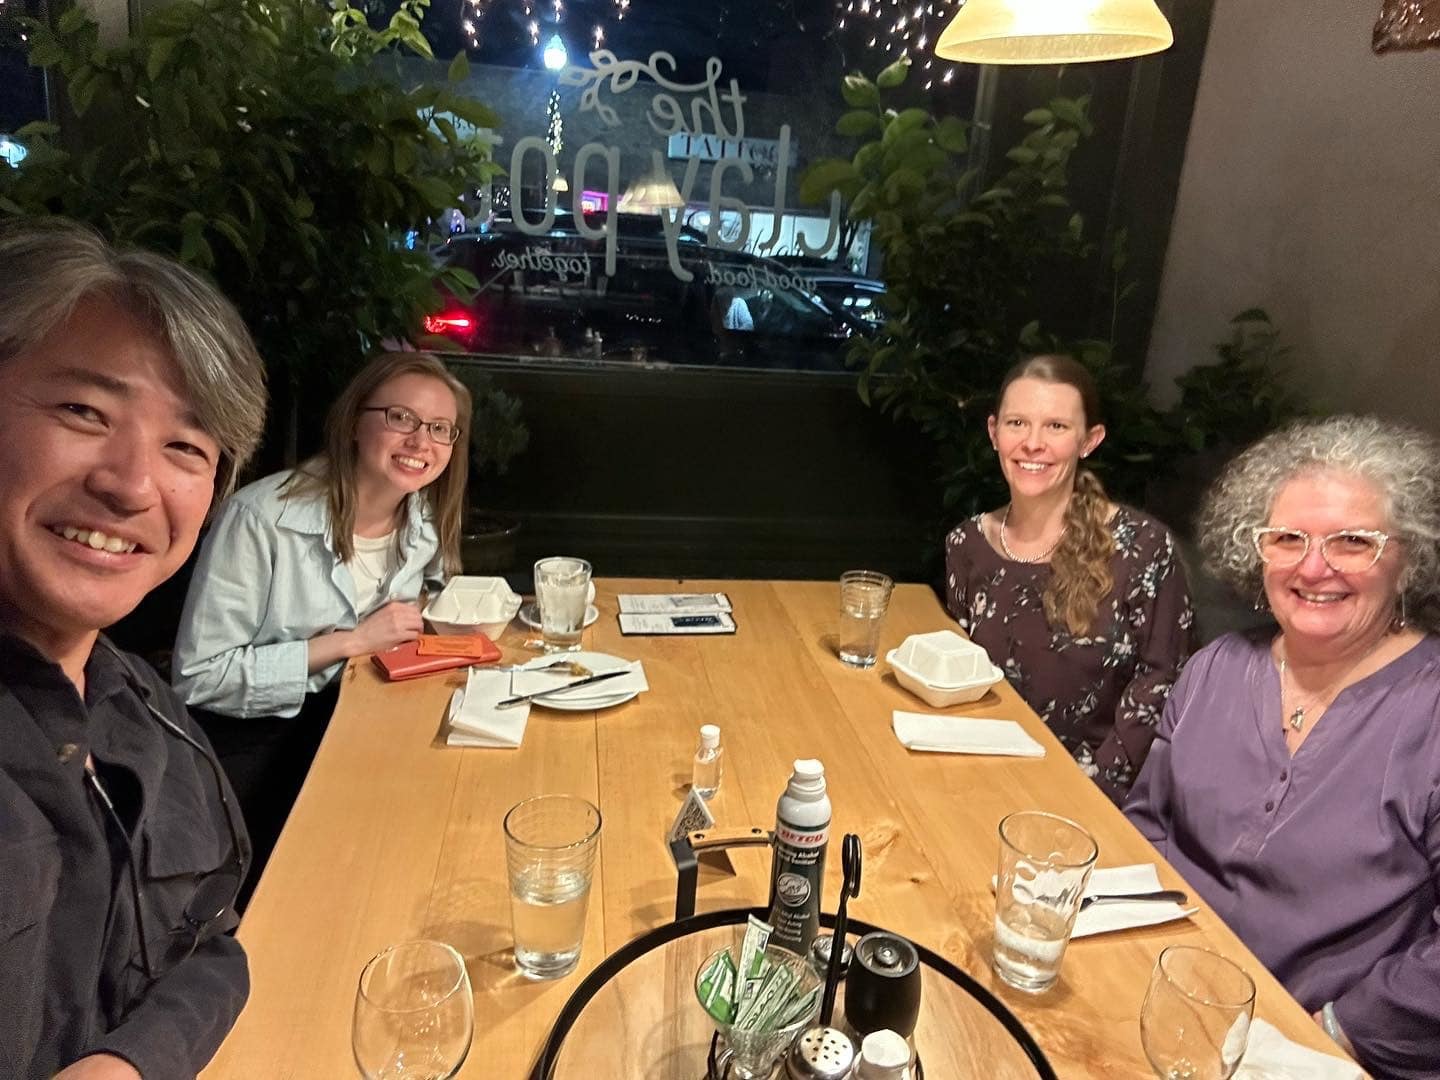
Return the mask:
{"type": "MultiPolygon", "coordinates": [[[[331,544],[340,562],[354,557],[356,530],[356,425],[370,395],[402,374],[423,374],[438,379],[455,395],[455,425],[459,439],[449,465],[420,494],[431,505],[435,531],[441,540],[441,557],[446,573],[459,573],[459,530],[465,516],[465,480],[469,475],[469,423],[472,406],[469,390],[449,370],[428,353],[384,353],[366,364],[330,406],[325,418],[325,448],[307,461],[282,490],[284,495],[324,494],[330,508],[331,544]]],[[[399,536],[396,536],[399,543],[399,536]]]]}

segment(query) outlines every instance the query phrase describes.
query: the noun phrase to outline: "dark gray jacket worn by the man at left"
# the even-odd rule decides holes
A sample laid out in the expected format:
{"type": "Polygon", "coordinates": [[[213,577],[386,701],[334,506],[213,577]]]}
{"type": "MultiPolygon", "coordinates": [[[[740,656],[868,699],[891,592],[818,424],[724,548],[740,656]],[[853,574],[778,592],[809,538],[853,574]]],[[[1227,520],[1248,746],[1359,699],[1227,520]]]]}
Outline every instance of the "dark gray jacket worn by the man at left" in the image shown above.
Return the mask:
{"type": "Polygon", "coordinates": [[[233,912],[197,935],[186,907],[248,868],[249,840],[229,785],[230,824],[202,753],[147,707],[209,750],[154,671],[102,638],[85,681],[81,701],[59,667],[0,635],[0,1077],[101,1051],[145,1080],[193,1077],[235,1024],[249,969],[225,933],[233,912]],[[125,841],[88,755],[131,837],[153,979],[125,841]]]}

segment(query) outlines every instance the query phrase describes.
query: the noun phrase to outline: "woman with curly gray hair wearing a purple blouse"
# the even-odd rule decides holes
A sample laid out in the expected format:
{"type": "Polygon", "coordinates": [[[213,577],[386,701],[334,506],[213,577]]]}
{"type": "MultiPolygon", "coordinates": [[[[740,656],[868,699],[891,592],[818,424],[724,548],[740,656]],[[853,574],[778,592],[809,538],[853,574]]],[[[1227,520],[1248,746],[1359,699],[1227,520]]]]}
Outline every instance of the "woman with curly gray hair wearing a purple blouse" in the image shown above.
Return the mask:
{"type": "Polygon", "coordinates": [[[1305,420],[1210,494],[1211,567],[1277,628],[1175,684],[1126,814],[1375,1076],[1440,1063],[1440,444],[1305,420]]]}

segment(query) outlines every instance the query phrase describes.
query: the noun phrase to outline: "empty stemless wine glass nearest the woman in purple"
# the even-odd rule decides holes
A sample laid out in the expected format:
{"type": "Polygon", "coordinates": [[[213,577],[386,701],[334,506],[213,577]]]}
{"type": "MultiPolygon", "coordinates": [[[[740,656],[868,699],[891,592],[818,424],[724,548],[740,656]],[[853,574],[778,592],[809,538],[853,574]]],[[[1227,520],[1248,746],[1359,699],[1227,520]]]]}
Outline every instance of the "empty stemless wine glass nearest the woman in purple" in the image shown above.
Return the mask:
{"type": "Polygon", "coordinates": [[[1140,1007],[1140,1044],[1162,1080],[1225,1080],[1240,1067],[1256,985],[1208,949],[1161,953],[1140,1007]]]}

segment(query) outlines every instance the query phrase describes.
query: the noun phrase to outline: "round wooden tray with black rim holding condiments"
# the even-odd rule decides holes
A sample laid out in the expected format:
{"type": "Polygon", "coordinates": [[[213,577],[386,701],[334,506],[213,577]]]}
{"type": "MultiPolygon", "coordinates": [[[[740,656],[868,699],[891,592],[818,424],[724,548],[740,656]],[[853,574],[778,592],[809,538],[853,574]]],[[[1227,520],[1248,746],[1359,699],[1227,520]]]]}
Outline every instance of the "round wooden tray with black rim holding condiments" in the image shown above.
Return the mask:
{"type": "MultiPolygon", "coordinates": [[[[664,1077],[700,1080],[714,1024],[696,1001],[696,971],[732,945],[762,909],[707,912],[641,935],[592,971],[560,1009],[531,1080],[664,1077]]],[[[821,922],[834,929],[834,916],[821,922]]],[[[883,927],[851,919],[858,937],[883,927]]],[[[1057,1080],[1025,1027],[975,979],[929,949],[920,953],[916,1050],[932,1077],[1057,1080]]],[[[841,984],[844,989],[844,984],[841,984]]],[[[837,1004],[835,1018],[842,1015],[837,1004]]]]}

